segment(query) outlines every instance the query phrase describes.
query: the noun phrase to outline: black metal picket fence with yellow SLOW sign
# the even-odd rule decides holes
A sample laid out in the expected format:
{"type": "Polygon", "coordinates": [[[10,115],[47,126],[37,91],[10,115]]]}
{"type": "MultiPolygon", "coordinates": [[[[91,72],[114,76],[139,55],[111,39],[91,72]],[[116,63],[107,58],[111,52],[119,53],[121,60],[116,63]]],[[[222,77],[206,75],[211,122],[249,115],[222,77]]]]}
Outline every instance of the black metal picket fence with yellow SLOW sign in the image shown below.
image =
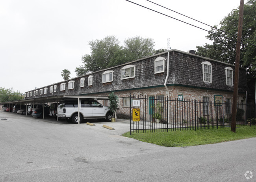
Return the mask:
{"type": "MultiPolygon", "coordinates": [[[[130,95],[130,133],[230,127],[231,111],[232,102],[229,100],[212,102],[207,99],[178,100],[130,95]],[[134,106],[134,103],[139,104],[134,106]],[[139,121],[136,121],[132,108],[140,109],[139,121]]],[[[252,114],[254,106],[237,103],[236,125],[255,125],[252,114]]]]}

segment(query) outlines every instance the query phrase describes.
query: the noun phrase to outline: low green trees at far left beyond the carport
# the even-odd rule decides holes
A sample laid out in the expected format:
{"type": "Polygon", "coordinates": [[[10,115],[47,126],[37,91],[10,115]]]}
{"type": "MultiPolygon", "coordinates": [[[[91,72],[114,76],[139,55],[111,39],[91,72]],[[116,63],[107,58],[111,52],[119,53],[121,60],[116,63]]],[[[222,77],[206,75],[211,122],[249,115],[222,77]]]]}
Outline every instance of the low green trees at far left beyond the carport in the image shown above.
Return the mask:
{"type": "Polygon", "coordinates": [[[13,91],[13,89],[0,87],[0,102],[21,100],[22,94],[19,91],[13,91]]]}

